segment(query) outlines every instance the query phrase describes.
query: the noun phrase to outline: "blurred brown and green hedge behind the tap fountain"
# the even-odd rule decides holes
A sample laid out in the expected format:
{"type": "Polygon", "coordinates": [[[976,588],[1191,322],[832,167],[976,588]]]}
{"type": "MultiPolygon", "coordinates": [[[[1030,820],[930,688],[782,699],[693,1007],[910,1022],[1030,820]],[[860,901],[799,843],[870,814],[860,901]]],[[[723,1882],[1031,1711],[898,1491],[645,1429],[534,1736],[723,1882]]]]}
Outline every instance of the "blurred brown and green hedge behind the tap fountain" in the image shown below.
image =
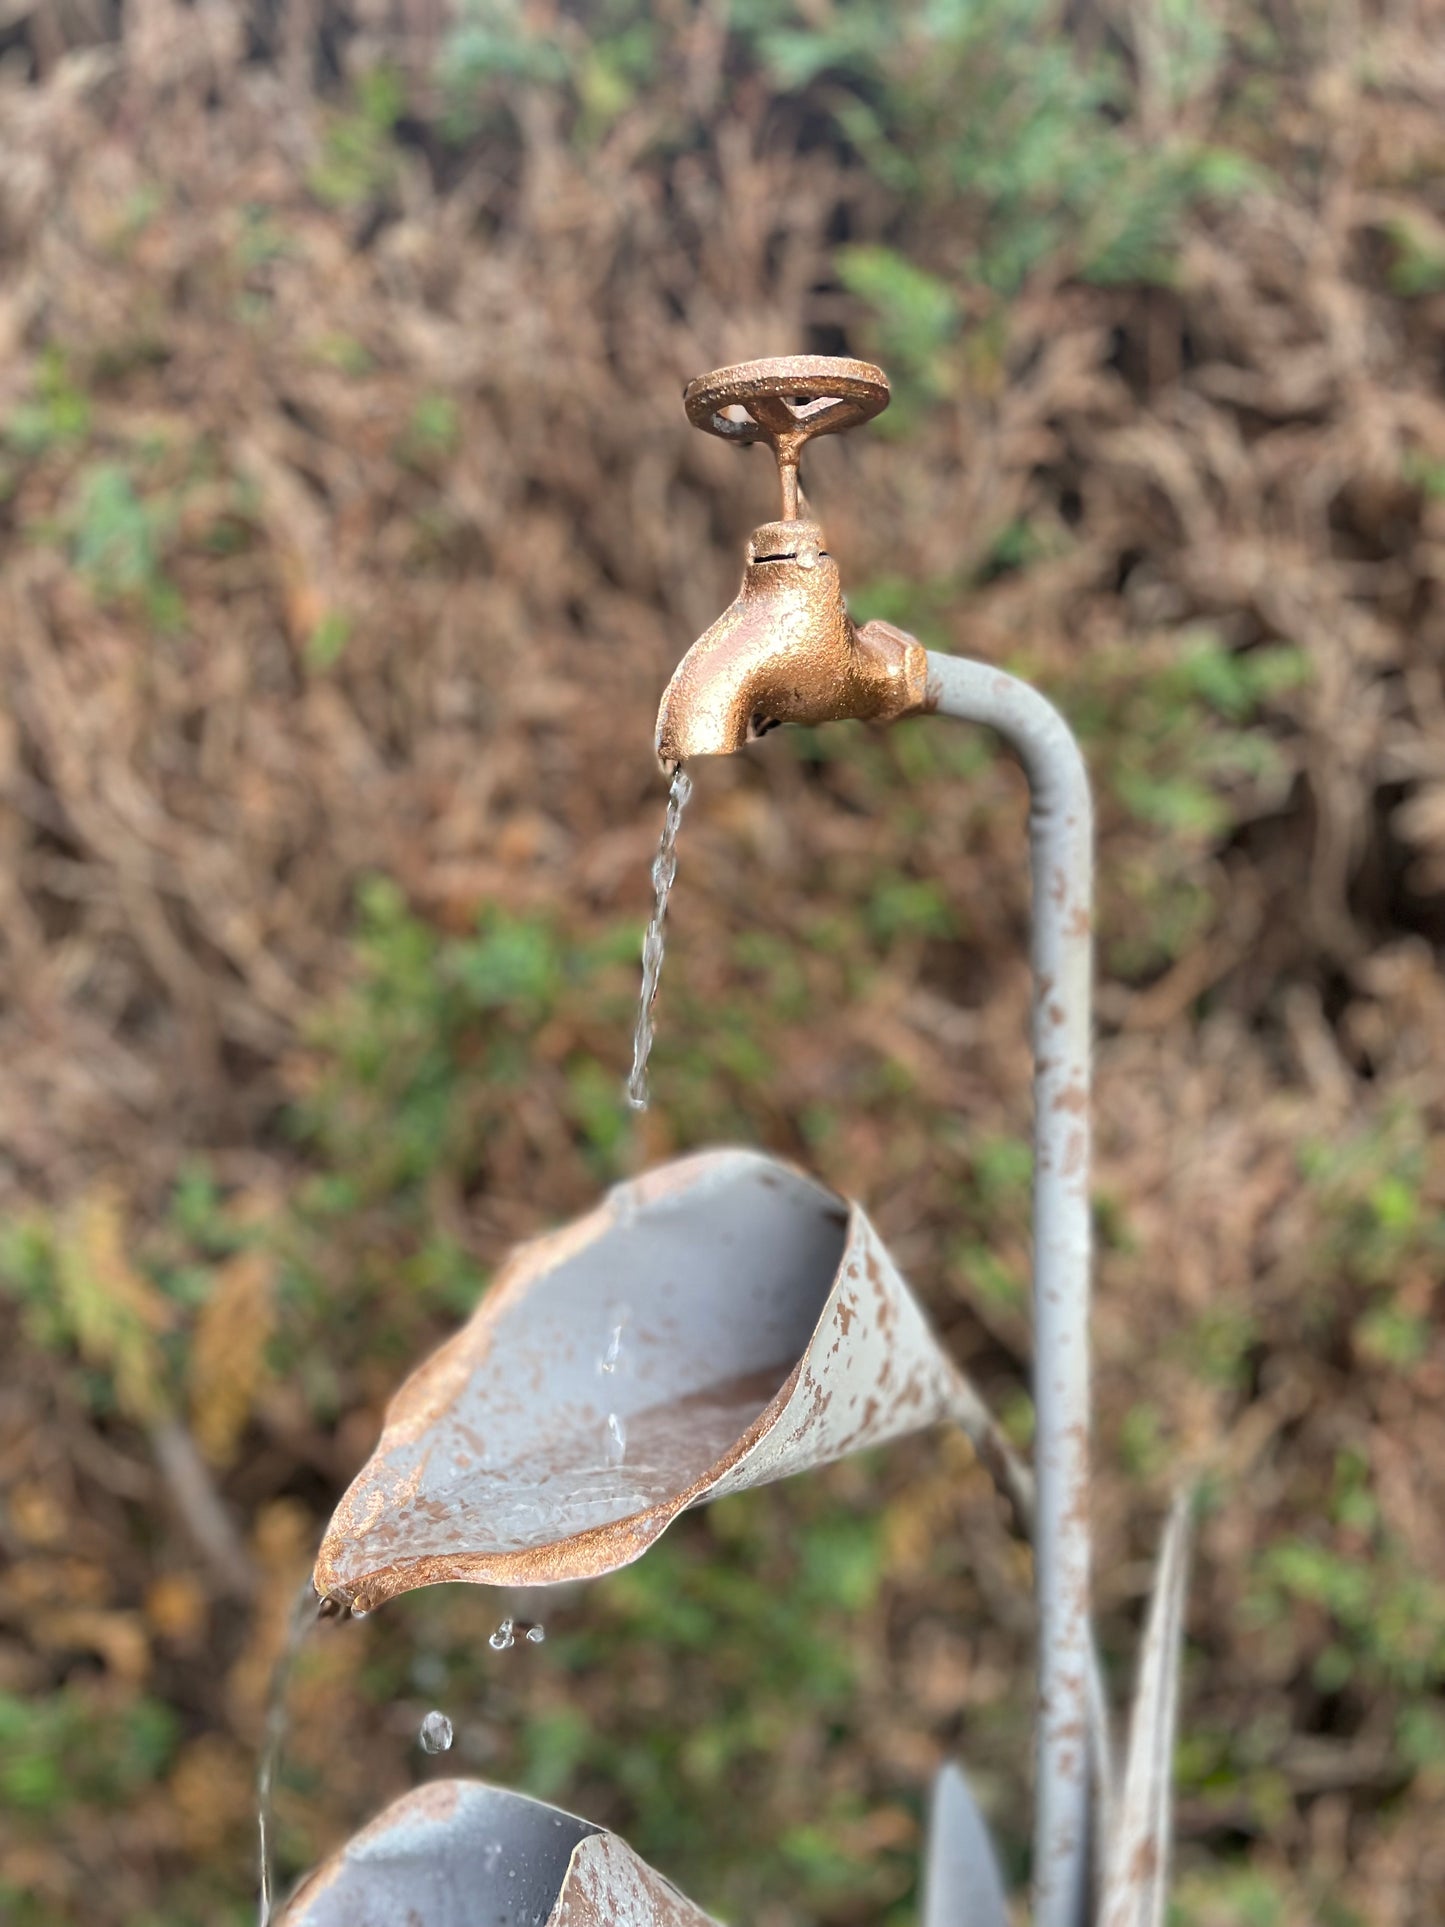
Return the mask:
{"type": "MultiPolygon", "coordinates": [[[[857,613],[1100,802],[1098,1609],[1202,1478],[1177,1927],[1445,1892],[1445,13],[1316,0],[0,8],[0,1912],[254,1910],[299,1576],[509,1245],[740,1139],[867,1201],[1021,1441],[1017,771],[697,771],[620,1087],[657,696],[771,513],[686,428],[859,353],[857,613]]],[[[432,1771],[736,1923],[1027,1871],[1027,1569],[948,1439],[547,1601],[312,1636],[293,1875],[432,1771]],[[430,1705],[457,1750],[426,1763],[430,1705]]]]}

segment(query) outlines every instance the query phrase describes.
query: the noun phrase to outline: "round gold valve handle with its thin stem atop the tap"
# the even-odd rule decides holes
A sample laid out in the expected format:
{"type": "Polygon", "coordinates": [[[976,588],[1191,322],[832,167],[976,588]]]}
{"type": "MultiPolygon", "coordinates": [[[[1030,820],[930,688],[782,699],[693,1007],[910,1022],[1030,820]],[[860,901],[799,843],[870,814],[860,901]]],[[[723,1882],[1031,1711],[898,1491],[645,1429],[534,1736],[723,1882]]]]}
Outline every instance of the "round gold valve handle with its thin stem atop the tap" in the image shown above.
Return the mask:
{"type": "Polygon", "coordinates": [[[778,461],[782,520],[798,520],[798,457],[813,436],[838,436],[888,407],[888,376],[840,355],[780,355],[734,362],[688,382],[682,407],[694,428],[724,441],[767,441],[778,461]],[[738,422],[724,409],[746,409],[738,422]]]}

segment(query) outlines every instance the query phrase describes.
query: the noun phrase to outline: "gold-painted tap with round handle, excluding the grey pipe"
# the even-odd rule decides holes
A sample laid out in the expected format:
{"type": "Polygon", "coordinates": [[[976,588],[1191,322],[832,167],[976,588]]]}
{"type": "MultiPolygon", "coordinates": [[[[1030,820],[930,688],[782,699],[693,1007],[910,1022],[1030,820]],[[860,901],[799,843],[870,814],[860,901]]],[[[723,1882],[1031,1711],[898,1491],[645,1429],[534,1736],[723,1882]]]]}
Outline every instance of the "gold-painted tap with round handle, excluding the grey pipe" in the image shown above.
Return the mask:
{"type": "Polygon", "coordinates": [[[925,709],[923,644],[890,622],[854,624],[823,530],[798,513],[803,443],[880,414],[884,372],[823,355],[738,362],[692,382],[684,407],[696,428],[724,441],[771,443],[782,516],[753,530],[736,601],[694,642],[663,694],[663,765],[728,755],[778,723],[892,723],[925,709]]]}

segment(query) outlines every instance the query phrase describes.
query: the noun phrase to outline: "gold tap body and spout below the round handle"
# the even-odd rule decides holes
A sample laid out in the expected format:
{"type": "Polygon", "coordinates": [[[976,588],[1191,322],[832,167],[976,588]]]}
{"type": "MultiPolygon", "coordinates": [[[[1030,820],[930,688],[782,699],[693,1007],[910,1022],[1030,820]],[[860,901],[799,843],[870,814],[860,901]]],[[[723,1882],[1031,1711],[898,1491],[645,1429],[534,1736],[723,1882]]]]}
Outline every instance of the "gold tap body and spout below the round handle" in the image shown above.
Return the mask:
{"type": "Polygon", "coordinates": [[[736,599],[663,692],[657,755],[730,755],[778,723],[884,723],[927,707],[927,651],[888,622],[854,624],[817,522],[765,522],[736,599]]]}

